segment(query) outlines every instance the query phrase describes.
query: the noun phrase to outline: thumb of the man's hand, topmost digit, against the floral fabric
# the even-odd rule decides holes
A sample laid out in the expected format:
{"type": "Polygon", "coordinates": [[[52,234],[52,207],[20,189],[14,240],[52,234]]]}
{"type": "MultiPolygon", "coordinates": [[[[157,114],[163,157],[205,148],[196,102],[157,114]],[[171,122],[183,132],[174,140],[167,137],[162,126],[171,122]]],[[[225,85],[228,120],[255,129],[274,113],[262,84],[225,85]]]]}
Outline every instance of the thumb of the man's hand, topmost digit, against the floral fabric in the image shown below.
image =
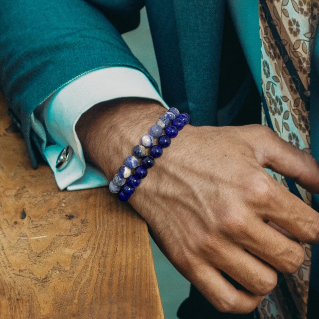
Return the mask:
{"type": "MultiPolygon", "coordinates": [[[[262,127],[262,126],[261,126],[262,127]]],[[[281,139],[268,128],[254,139],[257,159],[263,167],[296,180],[310,192],[319,193],[319,163],[310,154],[281,139]]]]}

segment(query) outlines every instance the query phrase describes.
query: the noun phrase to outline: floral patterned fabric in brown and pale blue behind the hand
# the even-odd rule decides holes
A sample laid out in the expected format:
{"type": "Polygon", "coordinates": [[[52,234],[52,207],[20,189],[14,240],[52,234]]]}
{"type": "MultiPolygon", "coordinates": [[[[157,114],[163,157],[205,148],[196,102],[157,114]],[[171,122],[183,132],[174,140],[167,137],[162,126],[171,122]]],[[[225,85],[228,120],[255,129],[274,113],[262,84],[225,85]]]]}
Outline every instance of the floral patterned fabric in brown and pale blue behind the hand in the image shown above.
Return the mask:
{"type": "MultiPolygon", "coordinates": [[[[259,0],[262,58],[262,122],[282,139],[310,152],[310,53],[319,0],[259,0]]],[[[293,180],[274,178],[311,205],[311,194],[293,180]]],[[[262,319],[306,319],[311,247],[293,275],[279,274],[276,289],[259,305],[262,319]]]]}

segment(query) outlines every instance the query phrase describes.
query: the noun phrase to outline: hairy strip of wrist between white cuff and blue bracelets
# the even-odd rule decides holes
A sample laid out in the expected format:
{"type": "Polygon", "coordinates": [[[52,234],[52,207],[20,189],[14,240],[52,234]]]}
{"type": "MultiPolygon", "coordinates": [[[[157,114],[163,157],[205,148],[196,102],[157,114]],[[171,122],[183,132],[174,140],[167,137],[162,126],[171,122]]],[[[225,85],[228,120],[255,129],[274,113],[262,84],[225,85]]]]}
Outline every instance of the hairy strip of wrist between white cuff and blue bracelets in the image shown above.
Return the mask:
{"type": "Polygon", "coordinates": [[[153,100],[123,98],[100,103],[76,125],[86,160],[111,179],[165,109],[153,100]]]}

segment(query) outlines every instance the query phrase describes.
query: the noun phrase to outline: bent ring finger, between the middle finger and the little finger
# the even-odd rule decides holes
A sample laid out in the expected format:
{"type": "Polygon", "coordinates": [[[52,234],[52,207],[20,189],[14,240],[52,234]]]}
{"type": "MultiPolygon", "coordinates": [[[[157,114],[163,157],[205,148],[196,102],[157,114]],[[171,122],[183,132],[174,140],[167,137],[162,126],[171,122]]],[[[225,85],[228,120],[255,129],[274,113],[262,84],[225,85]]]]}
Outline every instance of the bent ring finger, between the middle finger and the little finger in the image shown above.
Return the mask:
{"type": "Polygon", "coordinates": [[[276,271],[238,246],[228,247],[219,258],[215,255],[208,260],[255,295],[265,296],[277,285],[276,271]]]}

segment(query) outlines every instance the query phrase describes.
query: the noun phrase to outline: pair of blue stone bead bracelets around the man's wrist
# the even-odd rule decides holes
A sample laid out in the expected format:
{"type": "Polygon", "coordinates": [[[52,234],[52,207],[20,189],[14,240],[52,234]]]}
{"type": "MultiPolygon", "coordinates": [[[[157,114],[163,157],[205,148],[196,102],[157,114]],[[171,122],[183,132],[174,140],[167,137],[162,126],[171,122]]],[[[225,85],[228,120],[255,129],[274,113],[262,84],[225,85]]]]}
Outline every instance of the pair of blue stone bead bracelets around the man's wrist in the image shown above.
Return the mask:
{"type": "Polygon", "coordinates": [[[120,167],[109,184],[110,191],[118,193],[121,201],[129,200],[135,188],[140,186],[141,179],[147,176],[148,168],[154,166],[155,159],[162,155],[163,149],[170,146],[170,140],[175,138],[178,131],[182,130],[189,121],[190,116],[187,113],[179,114],[176,108],[170,108],[165,112],[157,124],[150,128],[150,134],[142,137],[141,145],[133,149],[133,155],[126,158],[125,165],[120,167]],[[163,130],[165,135],[162,135],[163,130]],[[155,144],[155,139],[158,139],[158,145],[155,144]],[[147,155],[147,149],[150,149],[150,155],[147,155]],[[142,165],[139,165],[140,159],[142,165]]]}

